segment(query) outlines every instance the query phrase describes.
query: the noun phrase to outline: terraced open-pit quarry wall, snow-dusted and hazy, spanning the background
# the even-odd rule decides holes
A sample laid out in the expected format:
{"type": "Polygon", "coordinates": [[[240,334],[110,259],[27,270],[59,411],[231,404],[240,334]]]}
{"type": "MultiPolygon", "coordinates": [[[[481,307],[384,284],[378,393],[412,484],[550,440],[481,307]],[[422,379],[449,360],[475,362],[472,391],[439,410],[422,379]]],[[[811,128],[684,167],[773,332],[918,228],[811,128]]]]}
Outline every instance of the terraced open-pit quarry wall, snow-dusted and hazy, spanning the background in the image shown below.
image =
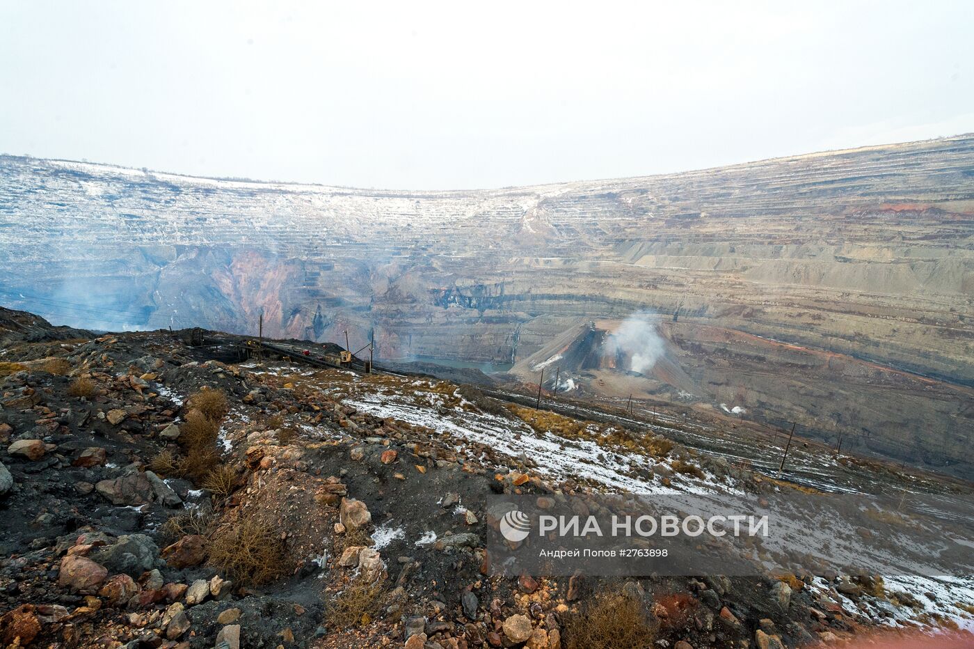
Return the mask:
{"type": "Polygon", "coordinates": [[[271,335],[348,329],[357,348],[374,331],[383,358],[516,361],[580,319],[648,310],[700,400],[755,395],[748,416],[932,463],[962,461],[974,427],[956,392],[974,386],[974,136],[473,192],[6,157],[0,261],[3,303],[65,324],[255,333],[263,310],[271,335]],[[796,371],[772,343],[833,356],[796,371]]]}

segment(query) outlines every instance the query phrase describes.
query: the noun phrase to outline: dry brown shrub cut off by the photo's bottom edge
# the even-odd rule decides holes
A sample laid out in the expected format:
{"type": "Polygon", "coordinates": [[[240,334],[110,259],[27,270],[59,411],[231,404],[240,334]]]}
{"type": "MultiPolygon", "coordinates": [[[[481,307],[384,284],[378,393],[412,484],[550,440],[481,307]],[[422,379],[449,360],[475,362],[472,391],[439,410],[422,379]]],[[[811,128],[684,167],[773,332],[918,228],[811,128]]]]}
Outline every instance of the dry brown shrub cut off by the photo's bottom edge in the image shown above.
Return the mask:
{"type": "Polygon", "coordinates": [[[567,649],[631,649],[648,647],[656,628],[634,597],[601,592],[569,617],[565,627],[567,649]]]}

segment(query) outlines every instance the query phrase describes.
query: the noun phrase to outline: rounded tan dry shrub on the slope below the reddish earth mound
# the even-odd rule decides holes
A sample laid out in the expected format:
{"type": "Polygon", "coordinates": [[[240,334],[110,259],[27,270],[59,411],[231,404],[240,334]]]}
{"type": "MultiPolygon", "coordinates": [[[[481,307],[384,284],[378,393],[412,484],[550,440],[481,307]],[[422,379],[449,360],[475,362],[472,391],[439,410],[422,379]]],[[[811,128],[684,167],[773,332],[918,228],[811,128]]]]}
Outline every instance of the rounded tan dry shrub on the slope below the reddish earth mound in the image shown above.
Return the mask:
{"type": "Polygon", "coordinates": [[[244,512],[237,522],[216,532],[209,561],[242,586],[273,582],[287,572],[290,563],[279,530],[244,512]]]}

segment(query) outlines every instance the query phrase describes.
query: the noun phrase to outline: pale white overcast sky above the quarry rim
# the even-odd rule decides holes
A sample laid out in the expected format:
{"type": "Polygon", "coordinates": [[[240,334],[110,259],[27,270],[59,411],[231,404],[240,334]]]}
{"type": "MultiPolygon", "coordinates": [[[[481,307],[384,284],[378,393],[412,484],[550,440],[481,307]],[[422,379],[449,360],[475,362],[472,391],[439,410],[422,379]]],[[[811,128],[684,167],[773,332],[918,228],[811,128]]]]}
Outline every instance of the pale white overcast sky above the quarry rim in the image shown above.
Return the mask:
{"type": "Polygon", "coordinates": [[[0,151],[474,188],[974,131],[974,2],[0,0],[0,151]]]}

